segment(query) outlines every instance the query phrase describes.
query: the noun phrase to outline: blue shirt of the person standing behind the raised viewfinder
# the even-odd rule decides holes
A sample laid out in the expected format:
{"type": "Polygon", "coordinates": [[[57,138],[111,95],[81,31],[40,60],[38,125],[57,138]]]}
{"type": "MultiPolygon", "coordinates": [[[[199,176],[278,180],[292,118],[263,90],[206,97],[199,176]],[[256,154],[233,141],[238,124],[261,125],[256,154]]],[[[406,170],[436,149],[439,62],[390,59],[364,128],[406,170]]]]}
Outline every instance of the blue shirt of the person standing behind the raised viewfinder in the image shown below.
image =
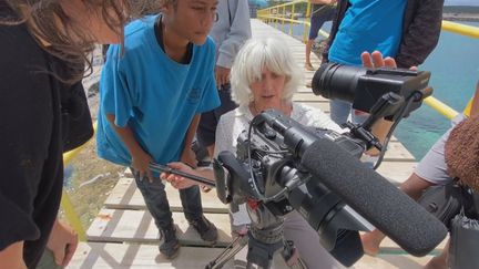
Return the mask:
{"type": "Polygon", "coordinates": [[[396,56],[402,37],[406,0],[349,0],[350,7],[329,49],[329,61],[360,65],[360,53],[396,56]]]}

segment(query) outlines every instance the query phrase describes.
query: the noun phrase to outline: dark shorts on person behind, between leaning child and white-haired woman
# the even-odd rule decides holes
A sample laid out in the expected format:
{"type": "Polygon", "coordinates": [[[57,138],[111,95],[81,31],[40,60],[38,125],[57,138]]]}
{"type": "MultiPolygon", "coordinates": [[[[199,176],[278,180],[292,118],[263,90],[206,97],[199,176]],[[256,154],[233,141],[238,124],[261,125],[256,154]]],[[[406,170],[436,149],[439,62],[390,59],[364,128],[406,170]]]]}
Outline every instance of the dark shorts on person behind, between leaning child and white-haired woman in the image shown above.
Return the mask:
{"type": "Polygon", "coordinates": [[[221,105],[213,111],[208,111],[202,114],[200,125],[196,131],[196,138],[201,146],[207,147],[215,143],[216,126],[220,117],[223,114],[237,107],[237,104],[231,99],[231,85],[230,83],[224,85],[218,91],[221,105]]]}

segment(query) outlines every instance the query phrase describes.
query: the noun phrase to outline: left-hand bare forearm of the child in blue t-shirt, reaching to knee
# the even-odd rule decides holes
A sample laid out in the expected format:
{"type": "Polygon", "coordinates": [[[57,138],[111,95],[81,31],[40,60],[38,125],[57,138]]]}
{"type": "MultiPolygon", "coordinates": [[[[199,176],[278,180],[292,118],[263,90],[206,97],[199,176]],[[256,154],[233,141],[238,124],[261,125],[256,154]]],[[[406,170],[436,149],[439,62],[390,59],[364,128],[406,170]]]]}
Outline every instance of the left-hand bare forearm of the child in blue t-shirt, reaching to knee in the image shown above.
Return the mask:
{"type": "Polygon", "coordinates": [[[149,168],[149,164],[153,161],[153,158],[150,156],[150,154],[145,153],[136,142],[131,128],[128,125],[125,127],[119,127],[114,123],[115,116],[113,114],[106,114],[106,118],[130,152],[130,155],[132,156],[131,165],[133,169],[140,173],[140,178],[147,176],[150,180],[153,180],[153,175],[149,168]]]}

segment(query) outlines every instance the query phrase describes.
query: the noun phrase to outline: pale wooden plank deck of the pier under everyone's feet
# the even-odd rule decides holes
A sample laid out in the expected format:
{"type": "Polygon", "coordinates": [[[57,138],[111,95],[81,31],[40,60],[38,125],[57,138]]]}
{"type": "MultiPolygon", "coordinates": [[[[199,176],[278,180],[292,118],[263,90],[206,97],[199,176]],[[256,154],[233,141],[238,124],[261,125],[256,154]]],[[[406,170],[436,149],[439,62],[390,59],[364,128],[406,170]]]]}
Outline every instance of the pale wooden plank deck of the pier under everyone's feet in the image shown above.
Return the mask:
{"type": "MultiPolygon", "coordinates": [[[[298,66],[304,65],[305,46],[302,42],[258,20],[252,20],[252,29],[254,38],[282,39],[293,51],[298,66]]],[[[312,59],[313,64],[318,66],[319,60],[314,53],[312,59]]],[[[310,81],[314,72],[304,73],[306,81],[310,81]]],[[[306,85],[299,89],[294,100],[319,107],[326,113],[329,112],[327,101],[312,94],[312,90],[306,85]]],[[[411,174],[415,165],[412,155],[397,139],[393,139],[385,162],[378,170],[397,185],[411,174]]],[[[104,207],[88,229],[88,242],[80,244],[69,268],[204,268],[231,240],[227,207],[215,197],[215,190],[202,194],[206,217],[218,227],[220,231],[217,244],[207,246],[188,227],[181,211],[177,190],[170,186],[166,189],[182,244],[176,259],[166,260],[160,255],[159,231],[132,176],[126,173],[118,182],[104,207]]],[[[438,247],[438,250],[442,247],[444,244],[438,247]]],[[[424,258],[408,256],[396,244],[385,240],[381,245],[381,255],[376,258],[364,256],[354,268],[415,269],[421,268],[430,258],[431,256],[424,258]]],[[[225,268],[231,268],[231,265],[225,268]]]]}

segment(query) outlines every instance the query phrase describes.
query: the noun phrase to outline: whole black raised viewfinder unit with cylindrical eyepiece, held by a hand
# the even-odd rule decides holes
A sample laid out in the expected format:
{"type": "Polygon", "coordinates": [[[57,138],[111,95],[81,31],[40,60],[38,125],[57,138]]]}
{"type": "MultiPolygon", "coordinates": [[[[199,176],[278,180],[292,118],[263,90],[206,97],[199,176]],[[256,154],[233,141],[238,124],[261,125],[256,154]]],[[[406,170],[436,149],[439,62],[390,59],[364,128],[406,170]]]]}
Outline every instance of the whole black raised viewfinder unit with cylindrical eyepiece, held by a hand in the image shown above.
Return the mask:
{"type": "Polygon", "coordinates": [[[430,72],[406,69],[365,69],[337,63],[323,64],[313,77],[313,92],[326,99],[353,103],[353,108],[397,121],[419,108],[422,100],[432,93],[428,87],[430,72]],[[385,94],[390,96],[384,96],[385,94]],[[376,107],[379,100],[394,102],[388,107],[376,107]],[[411,104],[398,113],[406,100],[411,104]]]}

